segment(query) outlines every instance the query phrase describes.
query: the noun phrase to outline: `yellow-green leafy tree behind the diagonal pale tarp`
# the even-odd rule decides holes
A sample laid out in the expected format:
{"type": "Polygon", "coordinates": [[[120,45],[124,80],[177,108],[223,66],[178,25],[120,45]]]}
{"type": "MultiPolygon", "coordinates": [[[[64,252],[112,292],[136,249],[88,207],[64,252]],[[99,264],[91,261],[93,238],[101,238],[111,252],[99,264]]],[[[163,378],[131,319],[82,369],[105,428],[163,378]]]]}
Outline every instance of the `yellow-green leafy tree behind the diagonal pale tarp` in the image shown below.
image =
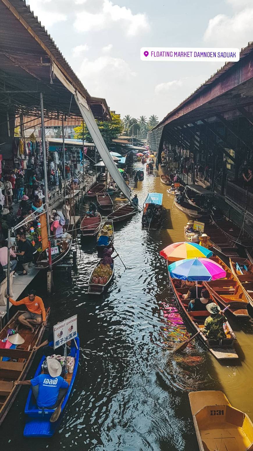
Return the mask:
{"type": "MultiPolygon", "coordinates": [[[[112,119],[111,122],[96,120],[100,133],[102,134],[102,137],[107,147],[110,146],[112,140],[116,139],[118,135],[123,132],[124,129],[122,121],[120,119],[120,115],[111,113],[111,119],[112,119]]],[[[82,124],[80,124],[78,127],[75,127],[74,132],[75,139],[83,139],[82,124]]],[[[84,141],[86,141],[87,143],[93,143],[93,139],[91,138],[85,124],[84,124],[84,141]]]]}

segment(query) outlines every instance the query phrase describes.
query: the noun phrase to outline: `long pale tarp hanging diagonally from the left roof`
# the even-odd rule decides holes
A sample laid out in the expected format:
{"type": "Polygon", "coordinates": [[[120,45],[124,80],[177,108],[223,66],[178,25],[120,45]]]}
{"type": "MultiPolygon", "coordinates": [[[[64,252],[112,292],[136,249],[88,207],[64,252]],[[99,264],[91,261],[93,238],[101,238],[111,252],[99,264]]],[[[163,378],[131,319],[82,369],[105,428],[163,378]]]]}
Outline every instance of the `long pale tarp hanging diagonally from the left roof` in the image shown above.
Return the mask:
{"type": "Polygon", "coordinates": [[[117,166],[115,165],[112,156],[109,150],[107,149],[106,143],[102,138],[102,134],[98,129],[98,125],[94,119],[92,111],[89,109],[89,107],[87,108],[88,105],[86,100],[82,96],[80,96],[80,94],[76,93],[75,101],[79,106],[81,115],[83,116],[87,129],[89,130],[89,134],[91,135],[93,143],[97,147],[99,155],[101,156],[103,162],[105,163],[107,170],[109,171],[115,183],[118,185],[120,191],[122,191],[125,197],[130,200],[131,193],[130,188],[125,183],[122,175],[120,174],[117,166]]]}

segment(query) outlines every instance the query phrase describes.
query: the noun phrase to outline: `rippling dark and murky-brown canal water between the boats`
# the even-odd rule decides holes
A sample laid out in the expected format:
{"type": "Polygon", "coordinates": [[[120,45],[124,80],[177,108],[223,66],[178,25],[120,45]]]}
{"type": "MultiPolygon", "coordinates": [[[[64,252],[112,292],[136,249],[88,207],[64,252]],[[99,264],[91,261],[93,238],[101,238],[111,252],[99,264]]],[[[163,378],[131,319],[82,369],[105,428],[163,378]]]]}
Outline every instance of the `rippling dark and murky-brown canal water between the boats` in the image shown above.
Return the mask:
{"type": "MultiPolygon", "coordinates": [[[[236,366],[220,364],[199,340],[184,353],[171,354],[173,344],[190,337],[169,291],[168,274],[159,252],[183,241],[187,217],[173,207],[173,197],[157,171],[142,182],[130,182],[142,205],[148,192],[163,193],[160,230],[142,230],[141,214],[115,228],[115,249],[127,267],[115,260],[115,279],[101,297],[87,294],[87,282],[98,261],[95,240],[78,246],[78,273],[72,283],[55,274],[55,294],[47,298],[43,274],[33,287],[51,306],[50,324],[78,314],[80,367],[75,389],[56,435],[25,439],[21,387],[1,426],[5,450],[188,451],[198,445],[188,401],[189,391],[223,390],[235,407],[253,419],[253,322],[228,319],[240,354],[236,366]]],[[[116,201],[120,206],[122,201],[116,201]]],[[[14,308],[13,308],[14,311],[14,308]]],[[[251,312],[252,313],[252,312],[251,312]]],[[[41,357],[32,365],[32,377],[41,357]]]]}

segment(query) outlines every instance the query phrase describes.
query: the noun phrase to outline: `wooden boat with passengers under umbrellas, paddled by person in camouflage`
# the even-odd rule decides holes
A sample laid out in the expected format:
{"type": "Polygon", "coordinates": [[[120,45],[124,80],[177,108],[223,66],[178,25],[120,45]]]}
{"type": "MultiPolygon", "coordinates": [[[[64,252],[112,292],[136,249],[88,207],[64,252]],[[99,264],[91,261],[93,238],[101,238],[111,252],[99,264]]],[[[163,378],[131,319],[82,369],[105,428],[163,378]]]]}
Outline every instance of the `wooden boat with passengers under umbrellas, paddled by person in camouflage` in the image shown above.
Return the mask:
{"type": "MultiPolygon", "coordinates": [[[[187,293],[188,287],[176,288],[174,285],[175,280],[177,279],[172,279],[169,275],[170,285],[173,289],[178,304],[180,305],[183,313],[186,316],[187,321],[195,330],[195,332],[200,331],[199,337],[203,341],[204,345],[207,346],[211,354],[213,354],[213,356],[217,360],[238,359],[239,357],[234,348],[236,337],[234,332],[232,331],[230,324],[226,322],[226,338],[223,338],[222,340],[208,340],[206,336],[201,332],[201,329],[203,329],[204,321],[207,317],[209,317],[210,313],[207,310],[187,312],[189,299],[183,300],[181,299],[181,295],[187,293]]],[[[213,302],[215,302],[215,300],[213,302]]]]}

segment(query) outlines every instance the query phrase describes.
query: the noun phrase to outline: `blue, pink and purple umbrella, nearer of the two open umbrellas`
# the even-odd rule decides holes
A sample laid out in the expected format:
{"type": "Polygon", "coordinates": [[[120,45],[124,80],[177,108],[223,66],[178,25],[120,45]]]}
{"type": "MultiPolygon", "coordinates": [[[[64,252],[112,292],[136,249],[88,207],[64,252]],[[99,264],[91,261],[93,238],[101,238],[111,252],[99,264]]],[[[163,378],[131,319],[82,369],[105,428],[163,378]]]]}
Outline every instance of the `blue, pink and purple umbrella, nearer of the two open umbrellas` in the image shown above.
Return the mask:
{"type": "Polygon", "coordinates": [[[215,281],[226,277],[226,271],[209,258],[185,258],[168,266],[171,277],[187,281],[215,281]]]}

